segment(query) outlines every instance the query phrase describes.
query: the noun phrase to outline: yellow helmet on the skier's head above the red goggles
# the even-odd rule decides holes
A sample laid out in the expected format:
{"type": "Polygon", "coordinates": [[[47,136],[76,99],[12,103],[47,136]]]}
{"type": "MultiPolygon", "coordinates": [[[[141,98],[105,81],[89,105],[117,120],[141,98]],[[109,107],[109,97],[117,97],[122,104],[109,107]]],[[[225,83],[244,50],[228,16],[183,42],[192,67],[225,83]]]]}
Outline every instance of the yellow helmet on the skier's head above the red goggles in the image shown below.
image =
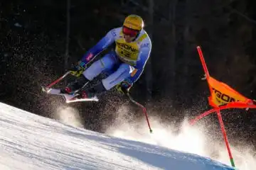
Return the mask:
{"type": "Polygon", "coordinates": [[[123,26],[133,29],[133,30],[142,30],[144,27],[144,21],[142,17],[137,15],[129,15],[124,19],[123,26]]]}

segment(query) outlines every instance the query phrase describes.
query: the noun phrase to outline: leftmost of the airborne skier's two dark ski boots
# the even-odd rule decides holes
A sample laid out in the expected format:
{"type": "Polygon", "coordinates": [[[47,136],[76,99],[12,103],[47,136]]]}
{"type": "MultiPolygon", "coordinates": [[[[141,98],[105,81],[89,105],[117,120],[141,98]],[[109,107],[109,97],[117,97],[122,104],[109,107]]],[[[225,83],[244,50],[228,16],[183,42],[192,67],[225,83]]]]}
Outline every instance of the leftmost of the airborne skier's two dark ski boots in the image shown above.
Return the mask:
{"type": "Polygon", "coordinates": [[[75,81],[72,81],[66,86],[64,89],[60,89],[61,94],[74,94],[75,91],[80,90],[83,86],[85,86],[89,82],[83,75],[75,81]]]}

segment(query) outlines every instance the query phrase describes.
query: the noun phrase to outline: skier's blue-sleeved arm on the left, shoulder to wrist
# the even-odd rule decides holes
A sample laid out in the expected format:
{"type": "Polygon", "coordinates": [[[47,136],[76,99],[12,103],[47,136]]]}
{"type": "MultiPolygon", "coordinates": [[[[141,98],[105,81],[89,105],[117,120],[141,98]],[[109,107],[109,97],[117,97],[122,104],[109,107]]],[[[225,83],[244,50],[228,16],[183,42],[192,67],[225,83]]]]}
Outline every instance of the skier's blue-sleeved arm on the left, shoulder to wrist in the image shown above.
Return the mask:
{"type": "Polygon", "coordinates": [[[88,50],[81,59],[83,66],[93,60],[98,54],[100,54],[100,52],[105,50],[105,48],[109,47],[114,42],[115,36],[117,36],[117,33],[115,33],[114,28],[110,30],[104,38],[97,42],[94,47],[88,50]]]}

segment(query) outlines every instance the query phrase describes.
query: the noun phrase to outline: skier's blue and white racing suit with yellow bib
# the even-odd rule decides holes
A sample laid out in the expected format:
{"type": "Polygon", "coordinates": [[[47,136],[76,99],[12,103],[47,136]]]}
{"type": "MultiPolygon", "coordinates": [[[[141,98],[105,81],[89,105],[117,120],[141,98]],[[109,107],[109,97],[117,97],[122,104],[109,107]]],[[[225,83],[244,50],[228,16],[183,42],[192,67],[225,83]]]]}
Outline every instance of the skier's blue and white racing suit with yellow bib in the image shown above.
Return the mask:
{"type": "Polygon", "coordinates": [[[133,42],[125,42],[122,27],[119,27],[110,30],[104,38],[88,50],[81,62],[87,64],[113,42],[116,45],[115,50],[108,52],[82,73],[89,80],[102,72],[109,73],[106,79],[102,79],[102,84],[107,90],[122,81],[132,86],[142,74],[151,52],[151,40],[145,30],[142,30],[133,42]]]}

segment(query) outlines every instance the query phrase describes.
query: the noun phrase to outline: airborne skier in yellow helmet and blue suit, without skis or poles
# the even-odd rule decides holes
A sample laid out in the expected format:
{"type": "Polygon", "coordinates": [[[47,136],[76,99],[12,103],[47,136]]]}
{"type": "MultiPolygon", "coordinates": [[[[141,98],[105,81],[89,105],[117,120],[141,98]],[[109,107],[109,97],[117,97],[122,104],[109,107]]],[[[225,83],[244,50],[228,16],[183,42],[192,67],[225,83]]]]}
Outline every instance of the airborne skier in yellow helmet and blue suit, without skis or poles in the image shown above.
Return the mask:
{"type": "Polygon", "coordinates": [[[78,94],[77,98],[91,98],[96,94],[116,87],[123,94],[127,94],[135,81],[144,70],[146,61],[151,53],[151,40],[144,30],[144,21],[137,15],[125,18],[123,26],[110,30],[104,38],[88,50],[78,64],[70,69],[71,74],[78,77],[68,86],[60,89],[60,93],[78,94]],[[115,42],[115,50],[85,69],[97,55],[115,42]],[[99,84],[83,89],[100,73],[109,76],[99,84]]]}

